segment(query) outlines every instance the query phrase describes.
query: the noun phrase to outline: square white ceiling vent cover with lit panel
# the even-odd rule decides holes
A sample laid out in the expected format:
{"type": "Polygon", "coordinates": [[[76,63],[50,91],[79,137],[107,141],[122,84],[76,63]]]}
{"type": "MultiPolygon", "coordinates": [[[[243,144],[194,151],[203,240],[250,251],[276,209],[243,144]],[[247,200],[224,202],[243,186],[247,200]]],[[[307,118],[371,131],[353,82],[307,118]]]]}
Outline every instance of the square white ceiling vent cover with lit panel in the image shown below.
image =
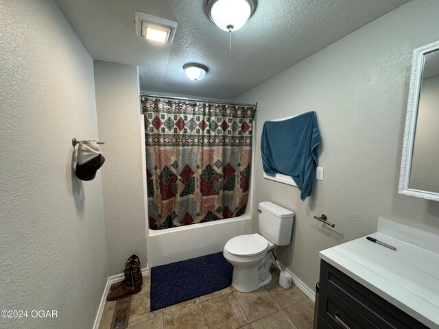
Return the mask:
{"type": "Polygon", "coordinates": [[[177,22],[161,17],[136,12],[136,33],[142,38],[171,43],[176,34],[177,22]]]}

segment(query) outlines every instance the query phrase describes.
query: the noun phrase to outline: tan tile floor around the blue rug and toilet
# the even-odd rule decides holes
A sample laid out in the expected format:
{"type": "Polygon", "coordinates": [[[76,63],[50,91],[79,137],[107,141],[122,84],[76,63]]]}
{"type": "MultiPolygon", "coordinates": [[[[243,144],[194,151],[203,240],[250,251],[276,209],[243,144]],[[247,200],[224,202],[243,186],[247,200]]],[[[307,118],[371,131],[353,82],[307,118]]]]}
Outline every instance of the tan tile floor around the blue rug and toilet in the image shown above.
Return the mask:
{"type": "MultiPolygon", "coordinates": [[[[150,276],[143,289],[132,296],[130,329],[312,329],[314,303],[296,286],[278,285],[272,267],[272,282],[252,293],[227,287],[209,295],[150,312],[150,276]]],[[[110,329],[116,302],[106,302],[99,329],[110,329]]]]}

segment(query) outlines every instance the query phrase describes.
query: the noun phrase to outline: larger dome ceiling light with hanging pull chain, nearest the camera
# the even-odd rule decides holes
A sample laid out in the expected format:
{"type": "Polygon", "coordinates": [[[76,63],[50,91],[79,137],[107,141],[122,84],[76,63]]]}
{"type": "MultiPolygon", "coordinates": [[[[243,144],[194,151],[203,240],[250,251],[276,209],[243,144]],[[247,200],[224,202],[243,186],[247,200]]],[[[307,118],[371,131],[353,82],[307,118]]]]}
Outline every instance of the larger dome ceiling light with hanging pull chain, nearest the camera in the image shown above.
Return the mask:
{"type": "Polygon", "coordinates": [[[241,28],[254,13],[257,0],[207,0],[206,12],[210,19],[224,31],[229,32],[232,51],[232,31],[241,28]]]}

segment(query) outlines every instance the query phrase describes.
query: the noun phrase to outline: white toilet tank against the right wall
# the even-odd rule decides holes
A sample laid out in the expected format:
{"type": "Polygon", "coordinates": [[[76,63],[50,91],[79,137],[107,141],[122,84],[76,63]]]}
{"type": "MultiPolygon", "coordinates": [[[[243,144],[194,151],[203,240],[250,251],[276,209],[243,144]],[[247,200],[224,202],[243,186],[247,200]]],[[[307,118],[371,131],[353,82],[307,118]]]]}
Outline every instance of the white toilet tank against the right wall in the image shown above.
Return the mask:
{"type": "Polygon", "coordinates": [[[259,232],[275,245],[288,245],[293,230],[294,212],[272,202],[259,204],[259,232]]]}

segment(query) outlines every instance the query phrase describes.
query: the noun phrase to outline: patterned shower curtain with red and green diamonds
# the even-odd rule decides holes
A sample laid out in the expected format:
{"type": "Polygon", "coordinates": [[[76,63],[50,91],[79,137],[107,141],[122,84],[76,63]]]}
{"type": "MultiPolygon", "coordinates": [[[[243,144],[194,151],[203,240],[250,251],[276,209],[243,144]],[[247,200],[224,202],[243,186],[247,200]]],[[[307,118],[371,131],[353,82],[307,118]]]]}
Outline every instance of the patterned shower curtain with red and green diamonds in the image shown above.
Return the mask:
{"type": "Polygon", "coordinates": [[[253,107],[141,97],[150,228],[246,211],[253,107]]]}

